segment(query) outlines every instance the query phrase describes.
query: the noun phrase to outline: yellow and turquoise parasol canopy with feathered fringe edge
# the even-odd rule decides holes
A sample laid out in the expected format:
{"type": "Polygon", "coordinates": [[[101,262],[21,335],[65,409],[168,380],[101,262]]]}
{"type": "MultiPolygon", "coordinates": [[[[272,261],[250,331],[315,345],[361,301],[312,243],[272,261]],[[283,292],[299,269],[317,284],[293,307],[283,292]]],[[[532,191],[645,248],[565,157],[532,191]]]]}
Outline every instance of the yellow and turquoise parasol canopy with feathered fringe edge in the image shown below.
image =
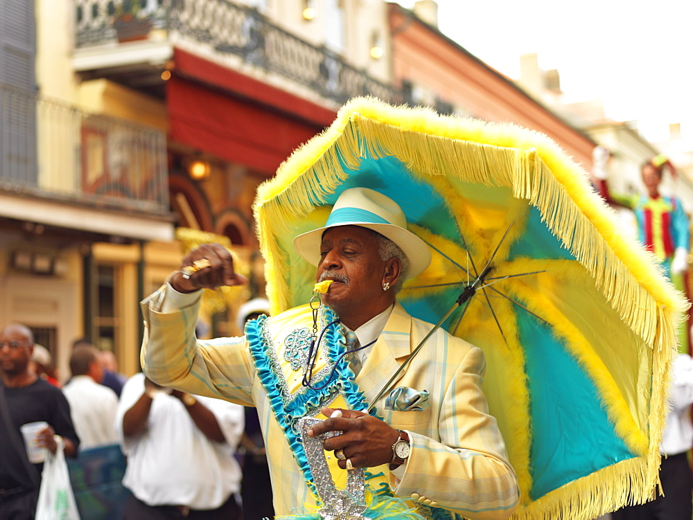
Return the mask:
{"type": "MultiPolygon", "coordinates": [[[[675,325],[687,303],[543,134],[357,98],[258,190],[272,312],[310,300],[296,235],[347,188],[401,206],[432,253],[398,300],[486,355],[518,474],[517,519],[591,519],[653,498],[675,325]]],[[[425,348],[425,346],[424,346],[425,348]]]]}

